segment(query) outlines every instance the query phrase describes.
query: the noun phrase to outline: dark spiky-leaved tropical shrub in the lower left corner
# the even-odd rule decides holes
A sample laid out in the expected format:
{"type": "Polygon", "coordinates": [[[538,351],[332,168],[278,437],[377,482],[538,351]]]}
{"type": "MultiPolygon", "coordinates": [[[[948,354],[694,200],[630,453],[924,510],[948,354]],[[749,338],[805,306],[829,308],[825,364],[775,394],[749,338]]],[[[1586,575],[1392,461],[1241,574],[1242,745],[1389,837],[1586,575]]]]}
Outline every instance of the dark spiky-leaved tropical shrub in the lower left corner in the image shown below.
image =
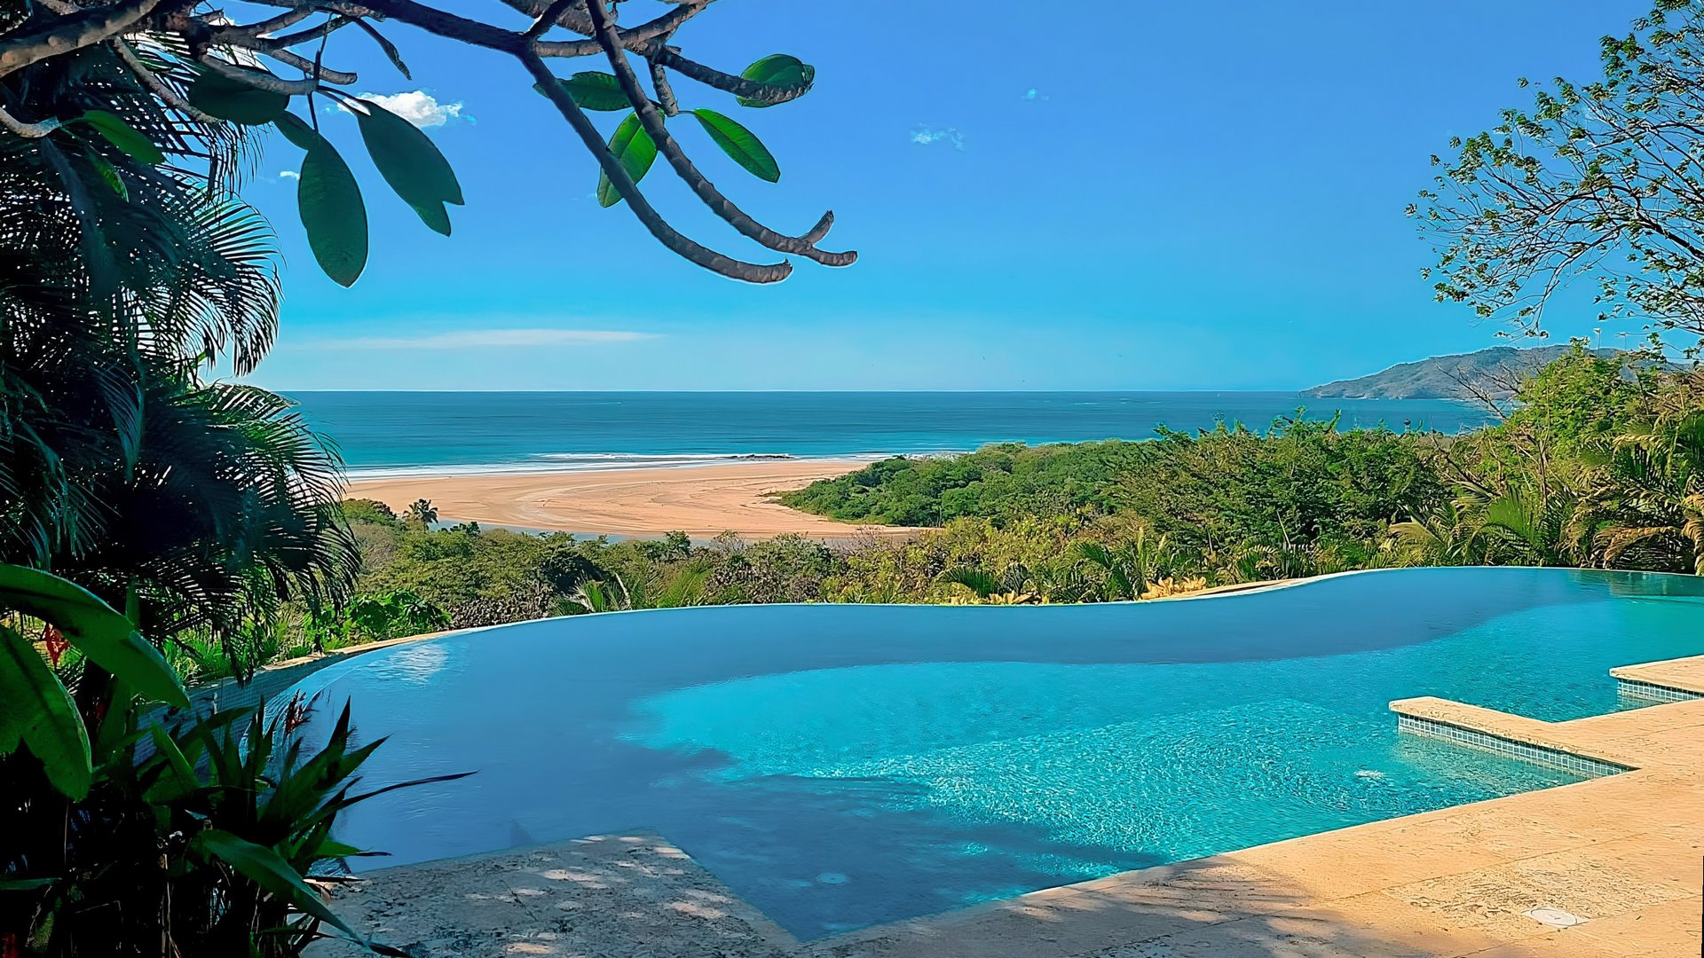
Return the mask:
{"type": "Polygon", "coordinates": [[[320,866],[371,852],[332,827],[414,782],[353,793],[382,740],[353,747],[348,706],[317,750],[295,735],[302,702],[271,721],[160,713],[189,704],[177,675],[94,593],[0,566],[0,955],[285,956],[360,939],[322,902],[339,878],[320,866]],[[46,658],[24,639],[34,622],[46,658]],[[68,649],[106,670],[111,697],[73,699],[68,649]]]}

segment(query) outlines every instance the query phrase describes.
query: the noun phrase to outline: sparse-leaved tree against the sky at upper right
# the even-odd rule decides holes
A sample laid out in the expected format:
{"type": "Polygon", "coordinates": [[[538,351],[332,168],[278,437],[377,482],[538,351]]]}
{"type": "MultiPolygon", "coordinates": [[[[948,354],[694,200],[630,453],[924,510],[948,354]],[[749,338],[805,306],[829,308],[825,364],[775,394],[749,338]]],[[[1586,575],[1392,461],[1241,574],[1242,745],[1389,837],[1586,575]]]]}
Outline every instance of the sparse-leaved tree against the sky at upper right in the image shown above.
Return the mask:
{"type": "Polygon", "coordinates": [[[1656,0],[1603,38],[1600,78],[1557,78],[1433,157],[1435,186],[1409,211],[1438,251],[1440,300],[1542,334],[1546,303],[1585,278],[1602,317],[1704,339],[1701,17],[1656,0]]]}

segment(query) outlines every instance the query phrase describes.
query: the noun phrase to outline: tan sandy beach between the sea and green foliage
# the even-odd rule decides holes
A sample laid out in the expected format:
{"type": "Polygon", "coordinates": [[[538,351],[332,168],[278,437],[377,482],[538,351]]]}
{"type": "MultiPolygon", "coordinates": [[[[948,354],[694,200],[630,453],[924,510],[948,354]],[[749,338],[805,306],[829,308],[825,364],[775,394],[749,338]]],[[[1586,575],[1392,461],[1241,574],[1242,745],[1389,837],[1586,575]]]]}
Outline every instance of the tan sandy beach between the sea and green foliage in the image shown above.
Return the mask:
{"type": "Polygon", "coordinates": [[[743,539],[786,532],[813,539],[845,539],[859,530],[915,532],[835,522],[765,498],[862,465],[854,460],[758,460],[685,469],[404,476],[356,479],[348,494],[378,499],[399,513],[414,499],[431,499],[440,520],[610,535],[648,537],[675,528],[694,539],[722,532],[743,539]]]}

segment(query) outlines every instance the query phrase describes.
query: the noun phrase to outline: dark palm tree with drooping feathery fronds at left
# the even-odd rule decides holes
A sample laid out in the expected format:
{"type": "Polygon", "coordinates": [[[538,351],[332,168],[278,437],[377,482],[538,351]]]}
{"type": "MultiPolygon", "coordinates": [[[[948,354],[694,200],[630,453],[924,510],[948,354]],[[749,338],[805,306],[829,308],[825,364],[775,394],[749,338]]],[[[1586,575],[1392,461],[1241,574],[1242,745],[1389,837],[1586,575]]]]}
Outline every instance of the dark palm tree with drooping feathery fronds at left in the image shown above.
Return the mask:
{"type": "MultiPolygon", "coordinates": [[[[0,135],[0,561],[230,653],[281,600],[346,593],[341,462],[288,401],[201,377],[215,358],[245,373],[273,343],[273,232],[232,198],[244,128],[165,106],[123,56],[90,46],[0,78],[68,119],[0,135]]],[[[177,58],[152,75],[194,80],[177,58]]]]}

